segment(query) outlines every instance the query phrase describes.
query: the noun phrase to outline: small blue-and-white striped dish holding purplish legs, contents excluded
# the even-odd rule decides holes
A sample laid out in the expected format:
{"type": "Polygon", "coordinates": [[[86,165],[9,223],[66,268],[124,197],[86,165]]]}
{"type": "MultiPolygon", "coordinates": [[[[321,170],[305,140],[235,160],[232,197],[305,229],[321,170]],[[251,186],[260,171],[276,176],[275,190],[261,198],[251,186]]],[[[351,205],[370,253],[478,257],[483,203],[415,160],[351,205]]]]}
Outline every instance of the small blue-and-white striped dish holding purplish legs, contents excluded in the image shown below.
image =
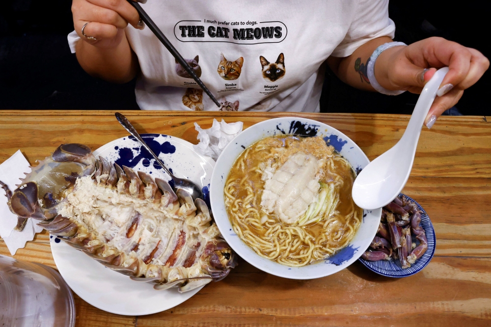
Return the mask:
{"type": "MultiPolygon", "coordinates": [[[[411,264],[411,267],[407,269],[402,269],[401,262],[399,260],[368,261],[362,258],[358,259],[365,267],[370,269],[372,272],[381,274],[382,276],[386,276],[386,277],[401,278],[401,277],[408,277],[415,273],[419,273],[423,268],[425,268],[430,263],[431,259],[433,258],[433,255],[435,254],[435,247],[436,247],[435,230],[433,229],[433,224],[431,223],[430,218],[426,214],[426,211],[424,211],[424,209],[419,205],[419,203],[414,201],[409,196],[402,193],[400,194],[400,196],[403,196],[407,201],[414,203],[421,211],[421,222],[419,223],[419,225],[423,227],[425,231],[426,240],[428,242],[428,249],[421,256],[421,258],[417,259],[416,262],[411,264]]],[[[414,235],[412,235],[412,242],[416,244],[418,244],[419,242],[416,240],[416,237],[414,235]]]]}

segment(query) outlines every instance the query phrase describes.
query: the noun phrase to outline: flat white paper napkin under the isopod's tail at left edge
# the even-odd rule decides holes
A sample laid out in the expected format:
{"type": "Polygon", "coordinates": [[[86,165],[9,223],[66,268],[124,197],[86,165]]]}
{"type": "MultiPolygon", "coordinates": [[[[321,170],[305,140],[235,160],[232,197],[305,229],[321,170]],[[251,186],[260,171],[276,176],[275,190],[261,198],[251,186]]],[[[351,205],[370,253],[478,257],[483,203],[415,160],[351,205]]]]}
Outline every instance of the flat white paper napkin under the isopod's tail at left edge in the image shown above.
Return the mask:
{"type": "MultiPolygon", "coordinates": [[[[29,163],[18,150],[14,155],[0,164],[0,181],[7,184],[10,191],[17,189],[16,184],[20,184],[20,178],[24,178],[24,173],[30,172],[29,163]]],[[[10,254],[14,255],[17,249],[26,246],[27,241],[34,239],[34,234],[43,229],[37,226],[32,219],[27,219],[26,226],[22,232],[14,230],[17,225],[17,216],[8,209],[5,192],[0,188],[0,237],[7,245],[10,254]]]]}

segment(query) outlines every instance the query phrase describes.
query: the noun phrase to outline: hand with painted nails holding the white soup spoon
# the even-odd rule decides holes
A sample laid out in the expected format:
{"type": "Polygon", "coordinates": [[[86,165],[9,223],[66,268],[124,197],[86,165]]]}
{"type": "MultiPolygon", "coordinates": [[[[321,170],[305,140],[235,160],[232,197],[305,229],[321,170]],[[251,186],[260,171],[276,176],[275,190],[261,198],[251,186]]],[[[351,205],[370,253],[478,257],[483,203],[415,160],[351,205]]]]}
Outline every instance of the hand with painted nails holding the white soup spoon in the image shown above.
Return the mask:
{"type": "Polygon", "coordinates": [[[464,90],[477,82],[490,65],[479,51],[440,37],[431,37],[407,47],[389,48],[375,63],[375,78],[389,90],[421,93],[437,68],[449,67],[437,97],[425,120],[431,128],[436,118],[462,97],[464,90]]]}

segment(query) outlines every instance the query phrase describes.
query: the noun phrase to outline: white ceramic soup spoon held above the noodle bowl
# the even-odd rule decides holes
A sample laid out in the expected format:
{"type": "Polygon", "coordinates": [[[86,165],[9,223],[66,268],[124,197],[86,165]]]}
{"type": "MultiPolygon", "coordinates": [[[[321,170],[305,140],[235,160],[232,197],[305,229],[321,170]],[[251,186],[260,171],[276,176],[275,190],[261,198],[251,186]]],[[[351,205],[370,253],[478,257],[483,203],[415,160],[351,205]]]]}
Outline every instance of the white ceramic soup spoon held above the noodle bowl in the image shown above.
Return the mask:
{"type": "Polygon", "coordinates": [[[448,67],[437,70],[426,83],[399,142],[363,168],[356,177],[352,195],[360,208],[381,208],[399,195],[406,185],[414,162],[421,126],[447,72],[448,67]]]}

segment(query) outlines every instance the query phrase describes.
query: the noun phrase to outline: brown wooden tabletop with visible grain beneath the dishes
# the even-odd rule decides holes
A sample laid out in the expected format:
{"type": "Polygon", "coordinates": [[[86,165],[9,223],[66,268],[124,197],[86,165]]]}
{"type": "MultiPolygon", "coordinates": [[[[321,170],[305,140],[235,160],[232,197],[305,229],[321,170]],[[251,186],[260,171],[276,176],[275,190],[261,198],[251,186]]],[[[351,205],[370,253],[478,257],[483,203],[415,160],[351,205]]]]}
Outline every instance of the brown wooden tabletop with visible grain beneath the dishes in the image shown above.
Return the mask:
{"type": "MultiPolygon", "coordinates": [[[[248,127],[292,114],[127,111],[140,133],[197,143],[193,122],[213,118],[248,127]]],[[[402,136],[409,116],[300,114],[351,137],[373,160],[402,136]]],[[[21,149],[27,160],[60,143],[96,149],[127,135],[112,111],[0,111],[0,163],[21,149]]],[[[393,279],[359,262],[314,280],[287,280],[243,260],[223,281],[161,313],[128,317],[101,311],[75,296],[76,326],[491,326],[491,117],[441,117],[423,128],[403,191],[427,211],[436,231],[431,263],[393,279]]],[[[3,241],[0,253],[10,255],[3,241]]],[[[56,268],[43,232],[15,258],[56,268]]]]}

